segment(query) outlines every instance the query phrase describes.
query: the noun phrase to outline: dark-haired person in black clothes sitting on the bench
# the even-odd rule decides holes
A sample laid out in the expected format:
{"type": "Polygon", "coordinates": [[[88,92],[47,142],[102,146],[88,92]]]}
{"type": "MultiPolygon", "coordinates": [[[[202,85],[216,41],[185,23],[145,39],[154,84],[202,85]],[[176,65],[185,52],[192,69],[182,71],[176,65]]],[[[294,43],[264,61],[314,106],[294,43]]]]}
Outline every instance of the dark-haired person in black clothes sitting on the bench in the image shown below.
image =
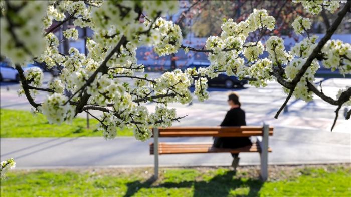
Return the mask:
{"type": "MultiPolygon", "coordinates": [[[[232,92],[228,95],[230,110],[227,112],[220,126],[243,126],[246,125],[245,111],[240,108],[239,95],[232,92]]],[[[215,137],[213,146],[216,148],[240,148],[252,145],[248,137],[215,137]]],[[[231,153],[233,156],[232,166],[236,169],[239,165],[239,153],[231,153]]]]}

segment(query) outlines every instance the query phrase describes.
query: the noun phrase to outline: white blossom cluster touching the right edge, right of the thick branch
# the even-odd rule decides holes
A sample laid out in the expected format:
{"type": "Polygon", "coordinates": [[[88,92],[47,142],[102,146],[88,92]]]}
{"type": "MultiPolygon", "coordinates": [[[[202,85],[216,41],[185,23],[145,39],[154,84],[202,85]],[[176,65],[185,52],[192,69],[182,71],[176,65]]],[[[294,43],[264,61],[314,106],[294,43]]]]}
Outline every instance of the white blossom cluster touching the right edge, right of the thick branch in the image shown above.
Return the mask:
{"type": "Polygon", "coordinates": [[[326,59],[322,61],[323,66],[331,71],[339,69],[340,74],[351,74],[351,44],[343,43],[341,40],[329,40],[322,52],[326,59]]]}

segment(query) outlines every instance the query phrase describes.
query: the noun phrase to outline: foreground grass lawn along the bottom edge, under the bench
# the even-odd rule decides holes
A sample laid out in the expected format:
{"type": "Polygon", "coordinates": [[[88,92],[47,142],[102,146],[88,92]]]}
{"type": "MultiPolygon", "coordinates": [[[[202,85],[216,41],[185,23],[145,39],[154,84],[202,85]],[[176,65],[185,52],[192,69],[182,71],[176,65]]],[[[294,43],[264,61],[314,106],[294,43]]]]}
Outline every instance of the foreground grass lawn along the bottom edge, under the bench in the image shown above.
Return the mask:
{"type": "Polygon", "coordinates": [[[351,196],[351,166],[273,167],[261,182],[256,167],[13,170],[4,196],[351,196]],[[272,169],[273,168],[273,169],[272,169]]]}

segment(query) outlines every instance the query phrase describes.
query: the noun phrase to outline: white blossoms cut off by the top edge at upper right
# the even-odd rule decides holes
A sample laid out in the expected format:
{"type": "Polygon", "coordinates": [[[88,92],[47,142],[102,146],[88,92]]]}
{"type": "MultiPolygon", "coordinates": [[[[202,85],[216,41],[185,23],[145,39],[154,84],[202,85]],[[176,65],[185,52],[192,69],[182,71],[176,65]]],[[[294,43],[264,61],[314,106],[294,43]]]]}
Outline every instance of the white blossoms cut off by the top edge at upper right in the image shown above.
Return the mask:
{"type": "Polygon", "coordinates": [[[319,14],[323,8],[326,10],[329,10],[331,13],[335,12],[339,6],[340,2],[345,2],[345,1],[340,1],[340,0],[311,0],[311,1],[306,1],[306,0],[293,0],[294,3],[301,3],[303,8],[306,9],[308,13],[311,13],[313,15],[319,14]]]}

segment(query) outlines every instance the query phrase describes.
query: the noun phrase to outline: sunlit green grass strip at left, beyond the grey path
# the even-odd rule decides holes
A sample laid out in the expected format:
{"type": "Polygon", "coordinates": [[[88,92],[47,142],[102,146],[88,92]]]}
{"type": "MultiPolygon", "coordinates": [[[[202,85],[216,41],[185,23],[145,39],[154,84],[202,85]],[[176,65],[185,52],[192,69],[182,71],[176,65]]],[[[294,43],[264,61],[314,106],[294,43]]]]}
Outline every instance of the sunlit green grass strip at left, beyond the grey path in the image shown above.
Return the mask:
{"type": "MultiPolygon", "coordinates": [[[[0,137],[83,137],[102,136],[98,121],[90,118],[87,129],[86,119],[75,118],[72,124],[49,124],[42,114],[33,115],[28,111],[0,109],[0,137]]],[[[119,130],[118,136],[132,136],[131,130],[119,130]]]]}

